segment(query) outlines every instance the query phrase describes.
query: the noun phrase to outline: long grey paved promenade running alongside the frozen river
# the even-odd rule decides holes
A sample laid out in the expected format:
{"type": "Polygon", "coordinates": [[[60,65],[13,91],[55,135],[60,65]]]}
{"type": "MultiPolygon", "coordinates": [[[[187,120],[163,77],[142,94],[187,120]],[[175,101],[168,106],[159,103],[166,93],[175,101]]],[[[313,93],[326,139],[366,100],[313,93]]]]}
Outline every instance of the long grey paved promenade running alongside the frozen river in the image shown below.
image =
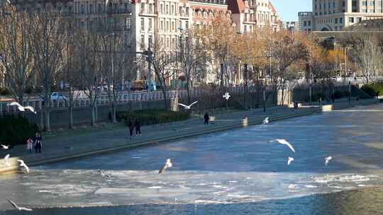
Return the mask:
{"type": "MultiPolygon", "coordinates": [[[[335,108],[350,108],[354,105],[371,105],[376,102],[376,100],[360,100],[352,103],[335,103],[335,108]]],[[[9,161],[11,166],[6,167],[3,159],[1,159],[0,172],[17,170],[18,164],[16,158],[23,159],[27,165],[40,165],[43,163],[64,161],[70,158],[89,156],[96,153],[106,153],[148,144],[158,144],[187,136],[239,128],[243,127],[243,117],[248,117],[248,124],[260,124],[266,116],[270,117],[270,121],[274,121],[310,115],[322,112],[322,110],[331,110],[331,106],[311,106],[297,110],[286,107],[274,107],[268,108],[266,113],[262,112],[262,109],[227,113],[213,116],[216,117],[216,121],[209,125],[204,125],[203,119],[193,118],[183,122],[141,127],[143,136],[135,136],[133,140],[126,138],[128,136],[128,129],[126,127],[116,127],[115,129],[105,130],[96,129],[94,132],[52,136],[48,139],[44,139],[43,136],[42,153],[29,153],[29,151],[26,150],[26,145],[15,146],[13,149],[7,151],[1,150],[1,158],[4,158],[7,153],[11,155],[9,161]]]]}

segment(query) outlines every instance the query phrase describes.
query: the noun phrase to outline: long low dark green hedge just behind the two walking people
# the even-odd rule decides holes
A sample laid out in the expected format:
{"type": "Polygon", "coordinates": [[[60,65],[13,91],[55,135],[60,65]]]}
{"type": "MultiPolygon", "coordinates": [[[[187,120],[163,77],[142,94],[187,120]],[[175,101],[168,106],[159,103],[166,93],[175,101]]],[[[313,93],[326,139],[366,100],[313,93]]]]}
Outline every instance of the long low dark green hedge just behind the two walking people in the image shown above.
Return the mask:
{"type": "Polygon", "coordinates": [[[142,125],[187,120],[189,117],[190,116],[188,113],[172,112],[159,109],[135,110],[133,112],[116,112],[116,118],[118,121],[127,122],[128,120],[131,120],[134,123],[135,119],[138,119],[142,125]]]}

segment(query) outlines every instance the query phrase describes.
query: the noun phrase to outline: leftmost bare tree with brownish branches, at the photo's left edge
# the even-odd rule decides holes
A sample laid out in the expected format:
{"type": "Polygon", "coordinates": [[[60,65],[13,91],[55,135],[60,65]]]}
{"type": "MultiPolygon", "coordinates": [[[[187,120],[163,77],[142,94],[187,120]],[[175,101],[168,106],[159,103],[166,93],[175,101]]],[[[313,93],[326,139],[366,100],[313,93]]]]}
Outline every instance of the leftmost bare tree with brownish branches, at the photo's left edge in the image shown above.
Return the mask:
{"type": "Polygon", "coordinates": [[[33,84],[33,16],[16,7],[4,8],[0,18],[0,66],[6,85],[18,103],[23,104],[24,91],[33,84]]]}

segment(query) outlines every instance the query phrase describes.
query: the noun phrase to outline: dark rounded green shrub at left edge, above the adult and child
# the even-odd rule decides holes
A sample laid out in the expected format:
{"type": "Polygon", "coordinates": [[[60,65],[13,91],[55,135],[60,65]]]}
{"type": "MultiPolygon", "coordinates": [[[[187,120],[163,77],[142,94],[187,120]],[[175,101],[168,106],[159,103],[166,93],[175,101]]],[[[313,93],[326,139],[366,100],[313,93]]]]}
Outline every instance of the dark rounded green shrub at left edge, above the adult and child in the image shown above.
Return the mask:
{"type": "Polygon", "coordinates": [[[15,146],[26,144],[29,137],[35,136],[38,126],[28,122],[21,115],[4,115],[0,117],[0,143],[15,146]]]}

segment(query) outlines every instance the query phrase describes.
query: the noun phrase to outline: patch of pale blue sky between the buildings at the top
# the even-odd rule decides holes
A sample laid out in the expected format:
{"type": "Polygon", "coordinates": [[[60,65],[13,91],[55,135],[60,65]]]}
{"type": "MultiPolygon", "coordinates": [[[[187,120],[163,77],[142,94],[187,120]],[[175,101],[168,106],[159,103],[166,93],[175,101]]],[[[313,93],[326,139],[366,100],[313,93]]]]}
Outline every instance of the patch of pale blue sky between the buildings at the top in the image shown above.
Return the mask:
{"type": "Polygon", "coordinates": [[[311,0],[272,0],[282,21],[298,21],[298,12],[311,11],[311,0]]]}

